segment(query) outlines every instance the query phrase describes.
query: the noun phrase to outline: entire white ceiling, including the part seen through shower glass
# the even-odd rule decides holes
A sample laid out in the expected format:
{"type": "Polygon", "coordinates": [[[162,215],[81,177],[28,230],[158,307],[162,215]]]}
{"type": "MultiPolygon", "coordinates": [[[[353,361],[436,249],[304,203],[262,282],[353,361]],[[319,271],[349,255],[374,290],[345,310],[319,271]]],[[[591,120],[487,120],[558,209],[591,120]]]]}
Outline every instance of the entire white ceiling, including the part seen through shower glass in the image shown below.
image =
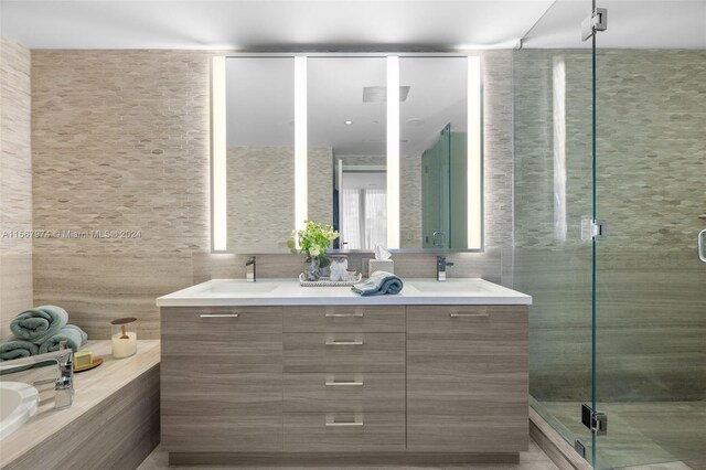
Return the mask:
{"type": "MultiPolygon", "coordinates": [[[[524,36],[528,47],[581,47],[586,44],[578,39],[579,24],[590,4],[590,0],[0,0],[0,32],[30,49],[453,51],[510,49],[524,36]]],[[[609,9],[609,31],[601,35],[601,46],[706,47],[706,0],[598,0],[598,6],[609,9]]]]}

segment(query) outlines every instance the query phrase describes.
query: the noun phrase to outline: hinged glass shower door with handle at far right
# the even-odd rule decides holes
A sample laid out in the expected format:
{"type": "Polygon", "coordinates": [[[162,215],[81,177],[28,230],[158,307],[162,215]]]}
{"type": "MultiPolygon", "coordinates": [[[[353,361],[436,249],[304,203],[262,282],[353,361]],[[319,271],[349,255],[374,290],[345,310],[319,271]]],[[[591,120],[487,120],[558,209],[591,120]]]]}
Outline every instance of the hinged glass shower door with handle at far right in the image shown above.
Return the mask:
{"type": "Polygon", "coordinates": [[[598,7],[595,467],[706,468],[706,2],[598,7]]]}

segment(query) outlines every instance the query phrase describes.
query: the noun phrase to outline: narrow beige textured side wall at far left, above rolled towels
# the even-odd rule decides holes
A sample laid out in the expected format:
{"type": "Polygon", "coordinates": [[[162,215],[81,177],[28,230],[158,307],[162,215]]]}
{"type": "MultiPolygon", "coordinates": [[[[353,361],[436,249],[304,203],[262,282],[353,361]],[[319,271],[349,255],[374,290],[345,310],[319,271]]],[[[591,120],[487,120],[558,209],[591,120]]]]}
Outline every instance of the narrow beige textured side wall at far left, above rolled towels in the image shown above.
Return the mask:
{"type": "Polygon", "coordinates": [[[0,38],[0,338],[32,307],[30,51],[0,38]]]}

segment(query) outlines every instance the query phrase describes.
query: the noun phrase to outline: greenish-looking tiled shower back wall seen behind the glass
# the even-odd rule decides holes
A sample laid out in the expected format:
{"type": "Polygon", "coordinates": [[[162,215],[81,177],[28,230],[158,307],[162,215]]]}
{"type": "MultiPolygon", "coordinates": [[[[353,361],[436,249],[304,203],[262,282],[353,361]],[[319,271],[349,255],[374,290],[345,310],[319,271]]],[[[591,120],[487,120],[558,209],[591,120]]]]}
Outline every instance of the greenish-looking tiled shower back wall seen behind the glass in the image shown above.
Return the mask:
{"type": "MultiPolygon", "coordinates": [[[[534,297],[532,394],[586,399],[590,382],[590,55],[521,51],[515,77],[514,285],[534,297]],[[554,66],[563,62],[565,82],[554,66]],[[555,83],[556,82],[556,83],[555,83]],[[560,83],[561,82],[561,83],[560,83]],[[566,89],[566,184],[555,186],[554,88],[566,89]],[[565,201],[566,237],[555,221],[565,201]],[[579,386],[577,386],[579,385],[579,386]]],[[[600,51],[597,353],[600,399],[706,393],[706,53],[600,51]]],[[[560,218],[559,218],[560,220],[560,218]]]]}

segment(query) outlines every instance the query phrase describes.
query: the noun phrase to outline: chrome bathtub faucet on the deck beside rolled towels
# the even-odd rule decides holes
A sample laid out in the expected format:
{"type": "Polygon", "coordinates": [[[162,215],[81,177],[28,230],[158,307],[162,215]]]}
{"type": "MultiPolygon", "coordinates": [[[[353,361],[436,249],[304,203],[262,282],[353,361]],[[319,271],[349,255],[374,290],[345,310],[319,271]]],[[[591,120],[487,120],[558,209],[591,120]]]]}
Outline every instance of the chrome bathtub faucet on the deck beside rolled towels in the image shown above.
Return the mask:
{"type": "MultiPolygon", "coordinates": [[[[45,354],[14,359],[0,363],[0,372],[12,368],[24,368],[47,361],[56,362],[58,373],[54,382],[54,409],[68,408],[74,402],[74,350],[66,348],[66,342],[60,343],[60,350],[45,354]]],[[[52,381],[49,381],[52,382],[52,381]]]]}

